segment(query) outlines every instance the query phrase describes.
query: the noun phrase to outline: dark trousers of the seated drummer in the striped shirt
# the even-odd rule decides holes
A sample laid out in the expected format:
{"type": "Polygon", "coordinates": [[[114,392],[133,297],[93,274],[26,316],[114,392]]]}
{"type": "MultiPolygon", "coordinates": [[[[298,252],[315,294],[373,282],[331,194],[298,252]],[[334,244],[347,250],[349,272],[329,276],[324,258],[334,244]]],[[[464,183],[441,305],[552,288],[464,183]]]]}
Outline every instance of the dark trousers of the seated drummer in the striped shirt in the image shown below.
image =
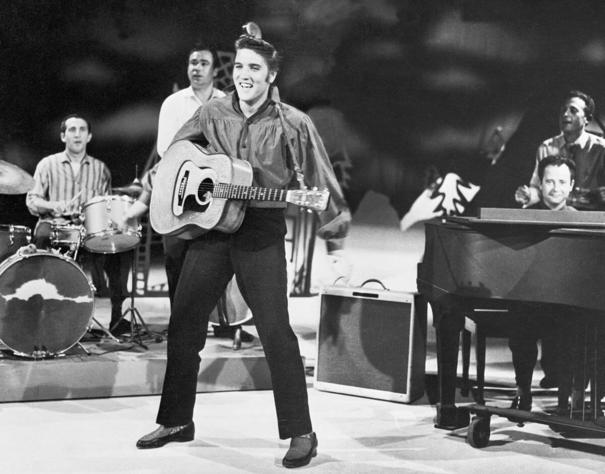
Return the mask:
{"type": "MultiPolygon", "coordinates": [[[[47,222],[41,222],[36,226],[36,231],[33,237],[33,243],[36,248],[50,248],[50,232],[51,225],[47,222]]],[[[128,295],[128,275],[130,274],[130,266],[132,263],[132,252],[121,252],[118,254],[97,254],[88,252],[86,249],[81,249],[78,255],[78,260],[81,264],[83,253],[87,253],[87,257],[91,258],[93,265],[103,268],[107,274],[108,289],[110,291],[111,301],[111,321],[110,328],[114,326],[122,318],[122,303],[128,295]]],[[[134,283],[133,283],[134,285],[134,283]]]]}

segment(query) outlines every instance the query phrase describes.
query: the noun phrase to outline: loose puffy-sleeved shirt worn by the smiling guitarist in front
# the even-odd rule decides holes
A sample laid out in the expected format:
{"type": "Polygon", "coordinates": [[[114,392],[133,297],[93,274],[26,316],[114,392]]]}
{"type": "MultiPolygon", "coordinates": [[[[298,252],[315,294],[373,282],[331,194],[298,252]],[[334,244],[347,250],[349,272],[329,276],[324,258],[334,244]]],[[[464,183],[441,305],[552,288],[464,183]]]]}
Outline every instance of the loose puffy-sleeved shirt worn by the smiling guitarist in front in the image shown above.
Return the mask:
{"type": "MultiPolygon", "coordinates": [[[[209,153],[246,160],[252,165],[253,186],[296,189],[294,162],[286,142],[290,140],[306,185],[330,191],[328,208],[319,213],[319,237],[335,240],[347,235],[351,214],[342,189],[315,125],[298,109],[267,98],[255,114],[246,117],[234,92],[202,105],[174,140],[191,140],[204,146],[209,153]],[[286,130],[277,107],[283,111],[286,130]]],[[[249,205],[282,207],[286,204],[252,201],[249,205]]]]}

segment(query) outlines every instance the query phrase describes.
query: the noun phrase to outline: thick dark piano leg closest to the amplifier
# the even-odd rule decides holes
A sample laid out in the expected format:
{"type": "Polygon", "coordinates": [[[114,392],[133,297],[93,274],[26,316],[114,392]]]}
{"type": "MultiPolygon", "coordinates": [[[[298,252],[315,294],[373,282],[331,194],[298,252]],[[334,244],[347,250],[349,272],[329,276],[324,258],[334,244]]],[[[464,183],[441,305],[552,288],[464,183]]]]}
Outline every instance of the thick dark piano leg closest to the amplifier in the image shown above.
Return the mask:
{"type": "Polygon", "coordinates": [[[437,418],[435,427],[457,429],[468,426],[469,413],[456,407],[456,379],[460,331],[464,328],[464,315],[447,311],[431,303],[433,326],[437,335],[437,418]]]}

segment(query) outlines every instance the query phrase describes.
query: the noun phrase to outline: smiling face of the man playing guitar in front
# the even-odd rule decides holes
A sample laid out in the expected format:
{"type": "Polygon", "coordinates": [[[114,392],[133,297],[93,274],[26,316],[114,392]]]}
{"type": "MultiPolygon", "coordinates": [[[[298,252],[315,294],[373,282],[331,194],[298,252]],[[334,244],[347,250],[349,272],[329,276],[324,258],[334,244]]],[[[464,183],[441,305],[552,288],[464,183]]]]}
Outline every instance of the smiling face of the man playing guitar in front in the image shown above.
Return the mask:
{"type": "Polygon", "coordinates": [[[233,82],[240,102],[247,107],[263,104],[276,74],[275,71],[269,71],[267,61],[260,54],[249,49],[238,50],[235,55],[233,82]]]}

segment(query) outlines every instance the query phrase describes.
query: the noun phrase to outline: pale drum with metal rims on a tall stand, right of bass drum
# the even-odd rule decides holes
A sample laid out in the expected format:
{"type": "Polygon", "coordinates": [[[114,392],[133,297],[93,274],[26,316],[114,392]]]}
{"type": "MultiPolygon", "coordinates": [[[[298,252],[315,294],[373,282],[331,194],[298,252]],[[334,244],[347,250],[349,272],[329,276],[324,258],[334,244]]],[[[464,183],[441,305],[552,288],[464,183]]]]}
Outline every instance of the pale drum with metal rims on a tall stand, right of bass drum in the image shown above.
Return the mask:
{"type": "Polygon", "coordinates": [[[83,203],[80,208],[84,239],[82,245],[91,252],[117,254],[131,250],[141,241],[141,226],[118,229],[120,220],[134,199],[129,196],[97,196],[83,203]]]}

